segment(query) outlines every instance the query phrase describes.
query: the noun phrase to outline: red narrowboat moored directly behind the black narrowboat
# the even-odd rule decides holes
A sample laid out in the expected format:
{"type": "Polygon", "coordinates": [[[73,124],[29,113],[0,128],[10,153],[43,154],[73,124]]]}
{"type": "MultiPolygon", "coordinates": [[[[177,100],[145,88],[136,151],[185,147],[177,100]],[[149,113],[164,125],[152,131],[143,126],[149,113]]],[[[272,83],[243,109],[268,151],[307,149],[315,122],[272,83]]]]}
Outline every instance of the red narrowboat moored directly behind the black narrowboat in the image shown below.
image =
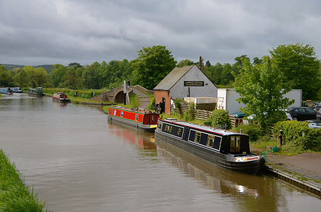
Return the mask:
{"type": "Polygon", "coordinates": [[[158,113],[139,109],[137,106],[131,108],[110,106],[108,111],[108,121],[148,132],[154,132],[158,117],[158,113]]]}

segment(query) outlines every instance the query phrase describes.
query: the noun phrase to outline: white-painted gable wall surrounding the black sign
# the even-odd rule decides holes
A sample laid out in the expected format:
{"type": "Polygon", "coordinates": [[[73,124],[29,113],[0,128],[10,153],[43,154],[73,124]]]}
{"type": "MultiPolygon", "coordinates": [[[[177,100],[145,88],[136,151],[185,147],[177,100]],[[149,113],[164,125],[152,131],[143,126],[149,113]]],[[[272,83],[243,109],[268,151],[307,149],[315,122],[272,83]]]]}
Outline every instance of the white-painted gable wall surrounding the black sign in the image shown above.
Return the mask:
{"type": "Polygon", "coordinates": [[[172,88],[171,98],[184,97],[217,97],[217,87],[196,66],[192,67],[172,88]],[[204,81],[204,86],[184,86],[184,81],[204,81]],[[190,88],[190,96],[189,96],[190,88]]]}

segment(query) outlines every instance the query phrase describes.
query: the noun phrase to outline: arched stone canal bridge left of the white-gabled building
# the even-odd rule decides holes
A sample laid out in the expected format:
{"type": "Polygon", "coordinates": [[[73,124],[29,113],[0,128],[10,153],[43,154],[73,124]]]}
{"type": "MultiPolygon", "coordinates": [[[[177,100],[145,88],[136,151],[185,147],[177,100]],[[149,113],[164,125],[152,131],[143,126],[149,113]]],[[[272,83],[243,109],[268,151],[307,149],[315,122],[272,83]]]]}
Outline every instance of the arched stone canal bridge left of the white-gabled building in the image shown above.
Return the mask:
{"type": "MultiPolygon", "coordinates": [[[[139,107],[146,108],[149,105],[150,97],[149,94],[154,94],[154,91],[148,90],[140,85],[134,85],[134,86],[126,86],[126,103],[130,104],[129,96],[135,93],[138,101],[139,101],[139,107]]],[[[99,95],[96,95],[91,98],[92,100],[98,100],[98,101],[111,101],[111,102],[117,102],[117,103],[123,103],[124,101],[124,87],[123,85],[119,85],[118,87],[115,87],[111,90],[108,90],[106,92],[100,93],[99,95]]]]}

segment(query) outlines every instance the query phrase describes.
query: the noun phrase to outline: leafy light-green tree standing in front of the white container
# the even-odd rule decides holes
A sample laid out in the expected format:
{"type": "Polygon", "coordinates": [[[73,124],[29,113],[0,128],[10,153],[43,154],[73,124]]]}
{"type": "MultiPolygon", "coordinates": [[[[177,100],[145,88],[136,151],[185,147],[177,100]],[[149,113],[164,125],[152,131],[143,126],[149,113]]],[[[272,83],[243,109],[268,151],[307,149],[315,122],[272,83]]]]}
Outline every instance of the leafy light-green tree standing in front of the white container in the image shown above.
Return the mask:
{"type": "MultiPolygon", "coordinates": [[[[263,63],[253,64],[242,58],[242,69],[235,76],[235,91],[240,94],[236,99],[243,102],[241,111],[253,115],[253,119],[265,131],[269,131],[271,123],[285,119],[285,112],[294,100],[283,98],[290,87],[282,87],[283,74],[269,56],[263,56],[263,63]],[[282,90],[284,88],[284,90],[282,90]]],[[[235,74],[235,73],[233,73],[235,74]]]]}

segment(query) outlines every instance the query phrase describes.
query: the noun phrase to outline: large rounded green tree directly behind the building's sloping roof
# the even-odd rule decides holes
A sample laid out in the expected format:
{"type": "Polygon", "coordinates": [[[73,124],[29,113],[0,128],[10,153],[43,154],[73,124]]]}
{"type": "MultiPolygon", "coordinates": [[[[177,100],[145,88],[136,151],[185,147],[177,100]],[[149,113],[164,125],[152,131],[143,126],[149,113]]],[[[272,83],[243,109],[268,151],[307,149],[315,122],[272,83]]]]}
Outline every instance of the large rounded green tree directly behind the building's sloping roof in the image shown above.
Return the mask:
{"type": "Polygon", "coordinates": [[[131,65],[134,83],[147,89],[154,88],[176,66],[177,61],[171,53],[163,45],[139,50],[136,61],[131,65]]]}

